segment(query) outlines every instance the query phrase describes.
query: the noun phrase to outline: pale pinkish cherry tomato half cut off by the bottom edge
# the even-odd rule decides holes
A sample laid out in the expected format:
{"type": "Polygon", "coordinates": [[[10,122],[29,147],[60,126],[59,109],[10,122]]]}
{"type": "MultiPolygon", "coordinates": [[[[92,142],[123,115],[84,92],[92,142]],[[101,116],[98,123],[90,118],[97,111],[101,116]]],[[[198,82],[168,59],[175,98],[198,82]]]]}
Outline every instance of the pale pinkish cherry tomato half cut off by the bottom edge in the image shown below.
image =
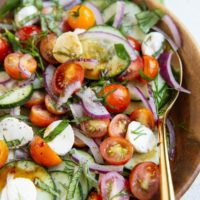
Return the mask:
{"type": "MultiPolygon", "coordinates": [[[[115,199],[120,192],[127,192],[126,179],[117,172],[109,172],[100,178],[100,191],[103,199],[115,199]]],[[[129,195],[118,196],[116,199],[129,200],[129,195]]]]}

